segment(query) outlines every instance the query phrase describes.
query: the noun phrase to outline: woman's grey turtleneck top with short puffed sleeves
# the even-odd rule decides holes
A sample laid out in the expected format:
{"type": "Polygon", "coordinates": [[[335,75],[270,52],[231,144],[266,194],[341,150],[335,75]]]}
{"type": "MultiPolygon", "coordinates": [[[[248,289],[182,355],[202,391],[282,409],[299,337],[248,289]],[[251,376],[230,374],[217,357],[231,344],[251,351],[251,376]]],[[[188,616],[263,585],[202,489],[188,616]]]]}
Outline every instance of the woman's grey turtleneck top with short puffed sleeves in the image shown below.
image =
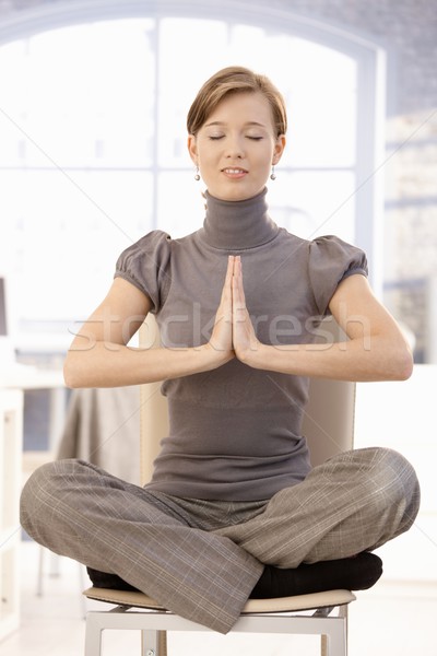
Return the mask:
{"type": "MultiPolygon", "coordinates": [[[[338,284],[367,276],[364,253],[334,236],[306,241],[269,218],[267,190],[245,201],[206,192],[197,232],[172,239],[153,231],[119,257],[115,276],[146,294],[165,347],[206,343],[227,256],[240,255],[247,307],[263,343],[315,340],[338,284]]],[[[217,370],[165,380],[170,427],[149,488],[182,497],[255,501],[302,481],[310,469],[302,435],[307,377],[217,370]]]]}

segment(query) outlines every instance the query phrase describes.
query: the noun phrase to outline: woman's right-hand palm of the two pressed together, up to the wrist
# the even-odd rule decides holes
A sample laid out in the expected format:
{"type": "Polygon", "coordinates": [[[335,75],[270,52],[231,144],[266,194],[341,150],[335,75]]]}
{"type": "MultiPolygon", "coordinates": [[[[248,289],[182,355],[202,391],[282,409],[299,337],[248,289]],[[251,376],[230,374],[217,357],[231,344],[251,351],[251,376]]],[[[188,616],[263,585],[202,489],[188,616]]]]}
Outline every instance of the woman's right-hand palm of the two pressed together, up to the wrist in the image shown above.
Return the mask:
{"type": "Polygon", "coordinates": [[[241,259],[234,258],[234,274],[232,280],[233,298],[233,345],[235,355],[241,362],[250,364],[250,358],[259,350],[260,342],[255,333],[246,307],[245,289],[243,285],[241,259]]]}

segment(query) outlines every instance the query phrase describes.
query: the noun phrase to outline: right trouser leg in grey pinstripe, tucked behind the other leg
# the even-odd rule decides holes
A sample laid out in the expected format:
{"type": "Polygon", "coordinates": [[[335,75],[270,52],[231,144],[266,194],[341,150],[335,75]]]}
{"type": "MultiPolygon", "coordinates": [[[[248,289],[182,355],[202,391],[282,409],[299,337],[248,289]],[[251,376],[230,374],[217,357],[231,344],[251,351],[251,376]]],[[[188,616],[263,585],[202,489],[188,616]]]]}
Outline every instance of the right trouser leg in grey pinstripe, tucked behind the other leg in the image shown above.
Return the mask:
{"type": "Polygon", "coordinates": [[[418,505],[416,475],[403,456],[356,449],[275,494],[258,517],[216,534],[262,563],[296,567],[380,547],[411,527],[418,505]]]}

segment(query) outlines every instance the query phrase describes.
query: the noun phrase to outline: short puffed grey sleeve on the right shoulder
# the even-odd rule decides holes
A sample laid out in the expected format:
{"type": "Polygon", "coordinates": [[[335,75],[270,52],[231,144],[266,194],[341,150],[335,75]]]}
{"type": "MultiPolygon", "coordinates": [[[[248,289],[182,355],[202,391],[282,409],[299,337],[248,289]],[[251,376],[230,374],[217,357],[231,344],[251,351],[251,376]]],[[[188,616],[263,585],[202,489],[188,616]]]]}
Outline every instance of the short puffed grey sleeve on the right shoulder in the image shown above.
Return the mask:
{"type": "Polygon", "coordinates": [[[368,274],[366,254],[332,235],[309,243],[309,279],[320,315],[324,315],[340,282],[368,274]]]}

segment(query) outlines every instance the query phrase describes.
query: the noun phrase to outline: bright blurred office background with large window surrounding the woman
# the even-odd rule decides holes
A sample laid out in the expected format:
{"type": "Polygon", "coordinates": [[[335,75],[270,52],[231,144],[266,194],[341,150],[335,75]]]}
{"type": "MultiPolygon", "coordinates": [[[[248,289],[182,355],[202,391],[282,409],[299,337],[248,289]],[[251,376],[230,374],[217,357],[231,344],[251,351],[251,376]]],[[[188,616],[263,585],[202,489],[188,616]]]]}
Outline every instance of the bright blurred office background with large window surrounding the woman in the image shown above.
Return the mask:
{"type": "MultiPolygon", "coordinates": [[[[13,617],[0,614],[3,656],[83,653],[86,574],[20,531],[20,487],[59,453],[64,353],[118,255],[151,230],[201,225],[185,117],[203,80],[232,63],[265,72],[287,103],[272,216],[366,250],[375,293],[414,351],[408,382],[357,385],[356,446],[402,452],[423,499],[411,531],[379,550],[381,581],[351,607],[350,653],[435,656],[436,16],[436,0],[0,1],[0,397],[17,418],[3,481],[20,461],[0,494],[1,573],[16,593],[13,617]]],[[[115,450],[121,424],[102,435],[115,450]]],[[[137,640],[117,634],[105,654],[137,653],[137,640]]],[[[178,655],[317,653],[308,636],[170,640],[178,655]]]]}

